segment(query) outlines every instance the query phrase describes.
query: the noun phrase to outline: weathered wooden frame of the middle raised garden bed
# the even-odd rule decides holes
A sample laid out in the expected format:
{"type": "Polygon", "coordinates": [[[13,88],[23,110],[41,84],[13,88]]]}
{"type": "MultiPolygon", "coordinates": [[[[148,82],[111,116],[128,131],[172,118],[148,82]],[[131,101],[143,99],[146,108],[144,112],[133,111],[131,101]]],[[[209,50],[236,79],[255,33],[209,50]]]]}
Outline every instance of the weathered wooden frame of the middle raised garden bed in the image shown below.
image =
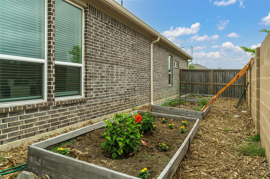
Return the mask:
{"type": "MultiPolygon", "coordinates": [[[[201,98],[186,99],[186,102],[191,103],[191,102],[198,102],[200,100],[201,100],[201,98]]],[[[201,111],[196,111],[194,108],[193,108],[193,110],[190,110],[190,109],[181,109],[181,108],[179,108],[179,106],[178,106],[178,108],[177,107],[161,106],[165,102],[166,101],[162,101],[162,102],[159,102],[159,103],[152,105],[151,111],[154,113],[163,113],[163,114],[187,116],[187,117],[195,117],[195,118],[204,119],[208,110],[211,107],[211,105],[209,105],[203,112],[201,112],[201,111]]]]}

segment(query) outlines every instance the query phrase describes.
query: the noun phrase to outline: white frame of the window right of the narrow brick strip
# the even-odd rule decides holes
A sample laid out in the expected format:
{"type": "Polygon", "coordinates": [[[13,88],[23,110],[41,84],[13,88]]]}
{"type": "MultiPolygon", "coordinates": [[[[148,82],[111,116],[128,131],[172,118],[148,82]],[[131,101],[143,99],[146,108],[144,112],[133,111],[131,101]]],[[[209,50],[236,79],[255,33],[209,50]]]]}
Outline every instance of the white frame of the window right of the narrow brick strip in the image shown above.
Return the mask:
{"type": "MultiPolygon", "coordinates": [[[[55,65],[66,65],[66,66],[77,66],[81,67],[81,94],[80,95],[75,95],[75,96],[63,96],[63,97],[57,97],[55,100],[62,100],[62,99],[74,99],[74,98],[82,98],[84,96],[84,8],[81,6],[78,6],[77,4],[73,3],[72,1],[69,0],[64,0],[67,3],[70,3],[74,6],[76,6],[79,9],[82,9],[82,63],[71,63],[71,62],[62,62],[62,61],[56,61],[55,60],[55,65]]],[[[57,8],[57,7],[55,7],[57,8]]]]}

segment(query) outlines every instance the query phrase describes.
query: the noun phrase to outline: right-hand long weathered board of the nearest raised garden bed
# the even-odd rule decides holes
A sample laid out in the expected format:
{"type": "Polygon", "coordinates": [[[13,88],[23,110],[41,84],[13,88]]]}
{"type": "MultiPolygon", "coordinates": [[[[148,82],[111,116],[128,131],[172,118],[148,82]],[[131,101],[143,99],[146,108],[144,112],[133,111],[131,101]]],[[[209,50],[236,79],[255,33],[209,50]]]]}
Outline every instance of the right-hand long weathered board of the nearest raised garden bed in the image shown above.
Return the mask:
{"type": "Polygon", "coordinates": [[[168,165],[164,168],[164,170],[161,172],[161,174],[158,176],[157,179],[173,178],[174,173],[178,169],[181,161],[183,160],[185,154],[187,153],[188,148],[191,144],[191,141],[193,140],[198,128],[199,128],[199,120],[196,121],[196,123],[194,124],[193,128],[191,129],[190,133],[188,134],[183,144],[177,150],[176,154],[173,156],[173,158],[170,160],[168,165]]]}

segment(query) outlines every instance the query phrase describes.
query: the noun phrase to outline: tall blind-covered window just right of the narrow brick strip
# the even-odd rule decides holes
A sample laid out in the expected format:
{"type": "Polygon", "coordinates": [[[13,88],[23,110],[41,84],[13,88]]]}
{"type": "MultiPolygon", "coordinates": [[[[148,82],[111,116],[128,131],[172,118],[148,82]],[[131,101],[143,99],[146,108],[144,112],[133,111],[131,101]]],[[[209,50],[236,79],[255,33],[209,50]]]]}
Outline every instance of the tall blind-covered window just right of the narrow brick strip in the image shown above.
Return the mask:
{"type": "Polygon", "coordinates": [[[82,9],[55,1],[55,97],[82,95],[82,9]]]}

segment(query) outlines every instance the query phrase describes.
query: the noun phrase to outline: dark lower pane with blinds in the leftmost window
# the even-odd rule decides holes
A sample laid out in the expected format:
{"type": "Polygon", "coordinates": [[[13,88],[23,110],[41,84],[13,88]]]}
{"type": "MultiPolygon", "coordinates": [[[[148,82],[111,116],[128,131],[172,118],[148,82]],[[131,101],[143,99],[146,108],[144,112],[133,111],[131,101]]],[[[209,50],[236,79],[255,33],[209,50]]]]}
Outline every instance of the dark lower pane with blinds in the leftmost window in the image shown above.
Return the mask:
{"type": "Polygon", "coordinates": [[[43,64],[0,59],[0,103],[43,98],[43,64]]]}

